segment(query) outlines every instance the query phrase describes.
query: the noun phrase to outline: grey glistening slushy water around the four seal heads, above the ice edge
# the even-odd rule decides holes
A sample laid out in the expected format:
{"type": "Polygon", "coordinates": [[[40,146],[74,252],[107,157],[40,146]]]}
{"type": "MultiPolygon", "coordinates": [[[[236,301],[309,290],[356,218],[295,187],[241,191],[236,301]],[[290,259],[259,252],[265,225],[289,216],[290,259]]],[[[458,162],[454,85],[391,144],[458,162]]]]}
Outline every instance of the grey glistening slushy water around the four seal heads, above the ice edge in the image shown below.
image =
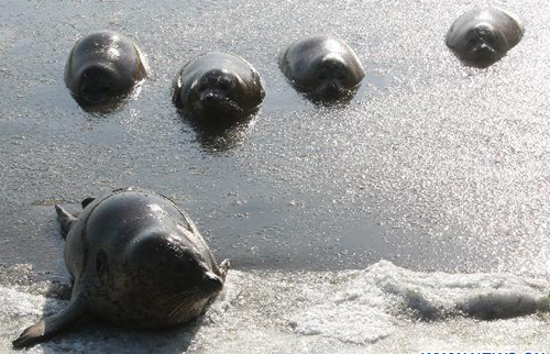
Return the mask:
{"type": "Polygon", "coordinates": [[[0,2],[0,259],[63,273],[54,202],[122,186],[173,197],[235,268],[548,272],[550,4],[502,1],[526,22],[479,70],[448,51],[472,1],[0,2]],[[152,69],[109,114],[63,82],[80,36],[133,38],[152,69]],[[342,37],[366,77],[346,106],[309,103],[277,67],[314,33],[342,37]],[[173,107],[177,69],[241,55],[266,99],[239,134],[209,140],[173,107]]]}

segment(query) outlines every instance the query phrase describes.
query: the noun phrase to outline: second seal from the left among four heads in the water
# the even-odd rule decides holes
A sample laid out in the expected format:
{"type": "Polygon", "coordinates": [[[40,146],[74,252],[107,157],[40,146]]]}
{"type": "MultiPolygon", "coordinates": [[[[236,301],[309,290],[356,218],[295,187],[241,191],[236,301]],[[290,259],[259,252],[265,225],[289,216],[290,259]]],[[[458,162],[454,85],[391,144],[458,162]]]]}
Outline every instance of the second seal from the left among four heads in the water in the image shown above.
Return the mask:
{"type": "Polygon", "coordinates": [[[234,122],[257,112],[265,91],[260,74],[245,59],[222,52],[187,63],[173,82],[174,104],[191,118],[234,122]]]}

